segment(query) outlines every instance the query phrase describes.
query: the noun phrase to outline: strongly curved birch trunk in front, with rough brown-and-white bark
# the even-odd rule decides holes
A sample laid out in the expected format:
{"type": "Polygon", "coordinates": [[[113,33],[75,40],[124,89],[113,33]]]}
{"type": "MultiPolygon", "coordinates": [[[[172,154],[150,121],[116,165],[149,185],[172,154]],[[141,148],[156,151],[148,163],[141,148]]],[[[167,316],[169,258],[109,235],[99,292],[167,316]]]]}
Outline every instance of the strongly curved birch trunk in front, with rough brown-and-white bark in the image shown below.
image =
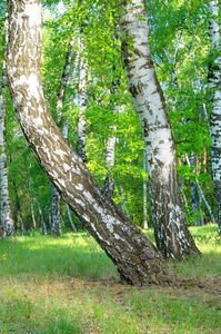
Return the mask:
{"type": "Polygon", "coordinates": [[[43,98],[41,1],[9,1],[8,81],[34,155],[88,232],[130,284],[170,281],[160,252],[119,209],[61,136],[43,98]]]}

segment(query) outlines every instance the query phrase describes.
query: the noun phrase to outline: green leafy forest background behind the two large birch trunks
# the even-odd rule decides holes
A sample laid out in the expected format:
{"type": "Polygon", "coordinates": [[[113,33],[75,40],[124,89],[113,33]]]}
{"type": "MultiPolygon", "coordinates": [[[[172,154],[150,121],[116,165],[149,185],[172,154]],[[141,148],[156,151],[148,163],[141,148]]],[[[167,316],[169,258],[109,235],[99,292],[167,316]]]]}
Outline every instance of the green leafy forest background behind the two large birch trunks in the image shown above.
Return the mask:
{"type": "MultiPolygon", "coordinates": [[[[177,147],[187,219],[190,225],[215,223],[208,78],[211,63],[209,1],[147,1],[147,9],[151,51],[177,147]]],[[[114,181],[114,202],[138,226],[147,228],[151,226],[147,159],[122,68],[119,10],[117,1],[87,1],[78,6],[69,0],[43,2],[43,89],[57,122],[58,111],[62,124],[68,122],[68,141],[77,150],[82,116],[80,96],[82,90],[87,92],[84,160],[101,186],[104,187],[107,177],[114,181]],[[71,60],[68,85],[62,105],[58,106],[68,57],[71,60]],[[118,87],[113,89],[117,81],[118,87]],[[114,139],[114,164],[111,165],[107,158],[110,138],[114,139]]],[[[0,4],[0,14],[3,68],[4,1],[0,4]]],[[[6,99],[6,153],[14,229],[26,233],[41,227],[46,233],[51,224],[52,186],[26,143],[8,89],[1,86],[6,99]]],[[[59,218],[63,229],[82,228],[62,200],[59,218]]]]}

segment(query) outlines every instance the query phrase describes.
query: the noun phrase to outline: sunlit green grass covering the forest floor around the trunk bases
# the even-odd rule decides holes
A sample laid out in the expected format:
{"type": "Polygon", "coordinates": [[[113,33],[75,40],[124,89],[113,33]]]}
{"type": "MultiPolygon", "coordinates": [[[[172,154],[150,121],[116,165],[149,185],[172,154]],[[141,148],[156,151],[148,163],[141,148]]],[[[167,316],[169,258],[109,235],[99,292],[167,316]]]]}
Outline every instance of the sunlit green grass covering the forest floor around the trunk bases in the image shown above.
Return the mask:
{"type": "Polygon", "coordinates": [[[0,240],[0,333],[220,333],[221,239],[215,226],[191,233],[203,256],[169,264],[180,287],[118,283],[83,233],[0,240]]]}

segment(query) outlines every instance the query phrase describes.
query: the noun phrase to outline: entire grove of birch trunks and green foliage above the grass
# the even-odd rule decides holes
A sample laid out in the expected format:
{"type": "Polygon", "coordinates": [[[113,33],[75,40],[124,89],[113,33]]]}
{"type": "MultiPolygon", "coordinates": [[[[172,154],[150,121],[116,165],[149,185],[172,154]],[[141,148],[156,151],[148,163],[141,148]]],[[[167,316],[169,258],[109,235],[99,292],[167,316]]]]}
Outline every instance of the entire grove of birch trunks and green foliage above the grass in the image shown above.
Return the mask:
{"type": "Polygon", "coordinates": [[[171,281],[163,257],[199,254],[188,224],[221,233],[219,12],[218,0],[0,4],[2,235],[84,227],[142,285],[171,281]]]}

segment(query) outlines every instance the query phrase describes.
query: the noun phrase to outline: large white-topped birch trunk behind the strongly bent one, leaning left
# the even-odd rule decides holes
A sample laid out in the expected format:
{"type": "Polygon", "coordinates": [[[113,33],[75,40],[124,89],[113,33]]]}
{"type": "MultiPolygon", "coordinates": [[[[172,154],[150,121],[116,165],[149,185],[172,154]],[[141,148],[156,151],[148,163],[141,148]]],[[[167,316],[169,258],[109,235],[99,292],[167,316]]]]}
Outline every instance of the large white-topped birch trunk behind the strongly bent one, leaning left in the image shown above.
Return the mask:
{"type": "Polygon", "coordinates": [[[132,0],[123,9],[122,57],[145,143],[155,242],[164,257],[182,259],[199,250],[179,193],[174,141],[150,52],[145,4],[132,0]]]}

